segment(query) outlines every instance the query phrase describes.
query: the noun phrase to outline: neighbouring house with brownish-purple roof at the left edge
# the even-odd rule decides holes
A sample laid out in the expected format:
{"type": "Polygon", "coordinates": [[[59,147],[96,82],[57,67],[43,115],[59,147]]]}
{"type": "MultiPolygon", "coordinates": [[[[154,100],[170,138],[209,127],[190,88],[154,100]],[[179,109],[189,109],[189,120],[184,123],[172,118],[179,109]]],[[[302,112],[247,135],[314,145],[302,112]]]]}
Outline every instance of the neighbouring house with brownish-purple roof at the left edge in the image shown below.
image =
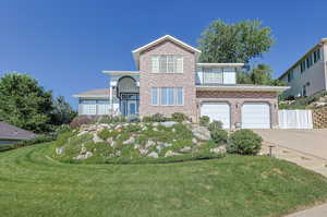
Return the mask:
{"type": "Polygon", "coordinates": [[[29,131],[25,131],[5,122],[0,122],[0,144],[13,144],[35,136],[36,135],[29,131]]]}

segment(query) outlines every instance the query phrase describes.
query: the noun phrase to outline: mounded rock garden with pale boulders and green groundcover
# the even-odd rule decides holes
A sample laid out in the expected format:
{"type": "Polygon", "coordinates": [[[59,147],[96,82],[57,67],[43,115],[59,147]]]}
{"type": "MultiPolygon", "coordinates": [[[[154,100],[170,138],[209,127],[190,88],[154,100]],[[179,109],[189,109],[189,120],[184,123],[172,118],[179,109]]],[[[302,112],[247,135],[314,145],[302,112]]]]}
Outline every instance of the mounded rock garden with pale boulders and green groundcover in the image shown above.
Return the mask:
{"type": "Polygon", "coordinates": [[[142,121],[137,117],[128,120],[105,117],[61,133],[53,143],[52,157],[77,164],[209,159],[223,157],[227,149],[240,149],[235,144],[227,146],[228,141],[221,123],[208,123],[206,117],[201,124],[191,123],[181,113],[172,118],[155,114],[142,121]]]}

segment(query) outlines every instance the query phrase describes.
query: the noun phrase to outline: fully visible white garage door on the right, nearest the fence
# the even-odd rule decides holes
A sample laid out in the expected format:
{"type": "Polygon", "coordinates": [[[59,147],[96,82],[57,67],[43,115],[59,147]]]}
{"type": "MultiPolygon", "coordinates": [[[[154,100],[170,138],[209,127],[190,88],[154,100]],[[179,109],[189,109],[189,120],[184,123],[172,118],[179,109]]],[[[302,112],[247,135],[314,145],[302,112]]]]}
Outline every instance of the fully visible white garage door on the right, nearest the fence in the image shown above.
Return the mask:
{"type": "Polygon", "coordinates": [[[270,107],[266,103],[245,103],[242,106],[242,128],[269,129],[270,107]]]}

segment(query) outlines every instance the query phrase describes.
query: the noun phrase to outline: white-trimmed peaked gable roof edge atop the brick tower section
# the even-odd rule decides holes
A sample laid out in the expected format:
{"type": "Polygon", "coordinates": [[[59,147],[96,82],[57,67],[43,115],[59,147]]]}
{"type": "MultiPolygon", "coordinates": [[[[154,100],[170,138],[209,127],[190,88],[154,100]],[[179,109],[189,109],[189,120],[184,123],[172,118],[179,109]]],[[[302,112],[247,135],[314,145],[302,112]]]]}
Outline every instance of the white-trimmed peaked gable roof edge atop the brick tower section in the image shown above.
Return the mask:
{"type": "Polygon", "coordinates": [[[147,44],[145,46],[142,46],[142,47],[140,47],[140,48],[137,48],[137,49],[135,49],[135,50],[132,51],[133,58],[134,58],[134,61],[136,63],[136,69],[137,70],[140,69],[140,53],[142,51],[144,51],[144,50],[149,49],[150,47],[154,47],[154,46],[156,46],[156,45],[165,41],[165,40],[170,40],[170,41],[172,41],[172,43],[174,43],[174,44],[177,44],[177,45],[185,48],[186,50],[195,52],[195,55],[197,55],[197,56],[201,53],[201,50],[198,50],[198,49],[196,49],[196,48],[194,48],[194,47],[192,47],[192,46],[190,46],[190,45],[187,45],[187,44],[185,44],[185,43],[177,39],[175,37],[172,37],[171,35],[165,35],[165,36],[162,36],[162,37],[160,37],[160,38],[158,38],[158,39],[156,39],[156,40],[154,40],[154,41],[152,41],[152,43],[149,43],[149,44],[147,44]]]}

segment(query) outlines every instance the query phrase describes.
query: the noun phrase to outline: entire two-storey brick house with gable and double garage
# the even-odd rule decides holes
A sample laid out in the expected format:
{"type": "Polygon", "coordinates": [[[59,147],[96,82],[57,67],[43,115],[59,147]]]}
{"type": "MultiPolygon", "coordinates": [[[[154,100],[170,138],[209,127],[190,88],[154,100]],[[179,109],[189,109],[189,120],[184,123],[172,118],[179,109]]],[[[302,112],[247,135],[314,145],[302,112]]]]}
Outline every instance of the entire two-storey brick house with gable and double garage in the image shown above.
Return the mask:
{"type": "Polygon", "coordinates": [[[183,112],[193,121],[220,120],[226,129],[278,128],[277,96],[287,87],[237,84],[243,63],[201,63],[198,49],[169,35],[132,53],[137,71],[104,71],[108,89],[74,95],[80,114],[102,114],[98,100],[106,100],[105,113],[183,112]]]}

